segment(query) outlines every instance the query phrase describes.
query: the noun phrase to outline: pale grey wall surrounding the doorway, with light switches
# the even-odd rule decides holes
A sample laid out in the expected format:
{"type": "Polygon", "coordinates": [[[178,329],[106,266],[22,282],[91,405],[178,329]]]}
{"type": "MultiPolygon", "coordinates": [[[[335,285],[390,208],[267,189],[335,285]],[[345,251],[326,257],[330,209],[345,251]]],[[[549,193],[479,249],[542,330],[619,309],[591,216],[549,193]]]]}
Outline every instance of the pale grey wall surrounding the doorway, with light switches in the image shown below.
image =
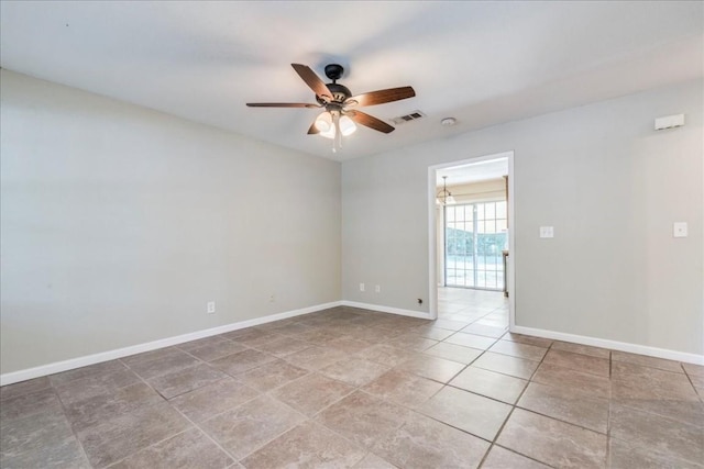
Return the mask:
{"type": "Polygon", "coordinates": [[[428,311],[428,167],[515,152],[516,323],[704,353],[703,82],[342,165],[343,299],[428,311]],[[686,114],[681,129],[653,120],[686,114]],[[689,222],[688,238],[672,223],[689,222]],[[556,237],[538,228],[553,225],[556,237]],[[382,292],[360,292],[360,282],[382,292]]]}

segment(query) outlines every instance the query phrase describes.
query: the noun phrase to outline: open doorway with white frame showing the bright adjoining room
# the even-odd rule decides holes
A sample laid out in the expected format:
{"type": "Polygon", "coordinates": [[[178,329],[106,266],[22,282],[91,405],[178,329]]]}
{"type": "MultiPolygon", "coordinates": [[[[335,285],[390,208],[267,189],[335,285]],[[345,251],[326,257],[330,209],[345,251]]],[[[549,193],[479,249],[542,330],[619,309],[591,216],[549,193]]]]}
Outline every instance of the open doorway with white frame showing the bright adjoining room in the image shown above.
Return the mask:
{"type": "Polygon", "coordinates": [[[432,317],[476,317],[504,305],[515,323],[513,157],[507,152],[429,168],[432,317]]]}

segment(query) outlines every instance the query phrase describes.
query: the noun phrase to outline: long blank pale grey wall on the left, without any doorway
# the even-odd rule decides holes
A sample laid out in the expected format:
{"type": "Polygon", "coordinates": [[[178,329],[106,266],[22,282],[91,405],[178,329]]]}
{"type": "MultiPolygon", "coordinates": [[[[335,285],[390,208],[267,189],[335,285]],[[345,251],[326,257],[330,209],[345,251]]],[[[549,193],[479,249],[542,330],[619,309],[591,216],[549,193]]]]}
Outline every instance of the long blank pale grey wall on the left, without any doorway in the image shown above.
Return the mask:
{"type": "Polygon", "coordinates": [[[338,163],[1,83],[2,373],[340,300],[338,163]]]}

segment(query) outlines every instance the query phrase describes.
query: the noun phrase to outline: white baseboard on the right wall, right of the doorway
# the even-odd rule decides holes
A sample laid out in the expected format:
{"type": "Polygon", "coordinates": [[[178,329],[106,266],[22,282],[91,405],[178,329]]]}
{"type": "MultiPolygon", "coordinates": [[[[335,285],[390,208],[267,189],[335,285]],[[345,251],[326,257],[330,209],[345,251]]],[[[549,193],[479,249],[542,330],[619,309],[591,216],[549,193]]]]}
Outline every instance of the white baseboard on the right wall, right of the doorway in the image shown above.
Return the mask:
{"type": "Polygon", "coordinates": [[[610,348],[612,350],[628,351],[631,354],[647,355],[649,357],[664,358],[668,360],[683,361],[685,364],[704,365],[704,355],[689,354],[686,351],[676,351],[667,348],[650,347],[647,345],[629,344],[627,342],[609,340],[606,338],[588,337],[584,335],[568,334],[534,327],[514,326],[510,328],[510,332],[516,334],[535,335],[536,337],[544,337],[556,340],[573,342],[575,344],[591,345],[593,347],[610,348]]]}

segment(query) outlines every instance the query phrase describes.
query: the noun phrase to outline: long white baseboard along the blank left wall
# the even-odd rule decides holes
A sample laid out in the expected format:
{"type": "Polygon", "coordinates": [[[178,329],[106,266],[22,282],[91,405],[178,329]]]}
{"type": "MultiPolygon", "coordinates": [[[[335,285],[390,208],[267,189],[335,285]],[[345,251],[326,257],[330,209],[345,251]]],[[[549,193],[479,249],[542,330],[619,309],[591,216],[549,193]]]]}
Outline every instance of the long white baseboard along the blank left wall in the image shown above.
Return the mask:
{"type": "Polygon", "coordinates": [[[177,335],[174,337],[161,338],[158,340],[147,342],[145,344],[132,345],[130,347],[118,348],[114,350],[101,351],[98,354],[86,355],[78,358],[72,358],[68,360],[56,361],[53,364],[42,365],[34,368],[28,368],[20,371],[13,371],[4,375],[0,375],[0,386],[12,384],[28,379],[40,378],[43,376],[54,375],[62,371],[68,371],[88,365],[100,364],[103,361],[114,360],[117,358],[128,357],[134,354],[141,354],[143,351],[151,351],[157,348],[170,347],[173,345],[183,344],[199,338],[211,337],[218,334],[224,334],[245,327],[252,327],[260,324],[266,324],[274,321],[280,321],[288,317],[300,316],[304,314],[315,313],[316,311],[328,310],[342,305],[342,302],[336,301],[332,303],[317,304],[315,306],[301,308],[299,310],[286,311],[283,313],[271,314],[268,316],[255,317],[252,320],[240,321],[232,324],[226,324],[223,326],[212,327],[204,331],[191,332],[188,334],[177,335]]]}

